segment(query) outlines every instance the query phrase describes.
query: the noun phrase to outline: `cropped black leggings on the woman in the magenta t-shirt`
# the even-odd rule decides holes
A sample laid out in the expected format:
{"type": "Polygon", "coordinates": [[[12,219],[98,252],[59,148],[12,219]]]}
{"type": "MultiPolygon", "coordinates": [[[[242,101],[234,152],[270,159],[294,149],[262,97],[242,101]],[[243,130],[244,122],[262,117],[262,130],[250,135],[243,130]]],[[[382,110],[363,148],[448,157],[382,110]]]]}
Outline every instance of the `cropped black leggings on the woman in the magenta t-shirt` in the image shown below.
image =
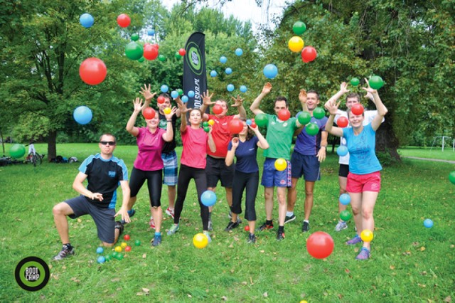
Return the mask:
{"type": "Polygon", "coordinates": [[[129,177],[129,188],[131,197],[134,198],[139,193],[144,182],[147,180],[149,187],[149,198],[151,207],[161,206],[161,187],[163,184],[163,170],[159,171],[142,171],[133,167],[129,177]]]}

